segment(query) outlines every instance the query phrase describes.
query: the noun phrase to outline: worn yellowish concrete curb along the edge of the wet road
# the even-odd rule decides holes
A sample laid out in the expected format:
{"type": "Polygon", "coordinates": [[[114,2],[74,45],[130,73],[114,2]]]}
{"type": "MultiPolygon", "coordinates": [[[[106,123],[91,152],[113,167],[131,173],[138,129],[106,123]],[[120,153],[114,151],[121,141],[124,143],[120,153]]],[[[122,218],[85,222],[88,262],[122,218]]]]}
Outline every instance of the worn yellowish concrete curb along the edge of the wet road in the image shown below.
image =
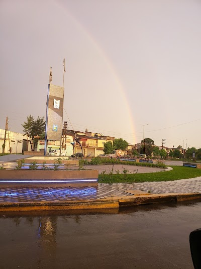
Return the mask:
{"type": "Polygon", "coordinates": [[[0,211],[38,211],[38,210],[73,210],[73,209],[103,209],[153,204],[164,202],[179,202],[201,199],[201,193],[165,193],[140,196],[109,197],[97,200],[80,200],[64,202],[17,202],[0,203],[0,211]]]}

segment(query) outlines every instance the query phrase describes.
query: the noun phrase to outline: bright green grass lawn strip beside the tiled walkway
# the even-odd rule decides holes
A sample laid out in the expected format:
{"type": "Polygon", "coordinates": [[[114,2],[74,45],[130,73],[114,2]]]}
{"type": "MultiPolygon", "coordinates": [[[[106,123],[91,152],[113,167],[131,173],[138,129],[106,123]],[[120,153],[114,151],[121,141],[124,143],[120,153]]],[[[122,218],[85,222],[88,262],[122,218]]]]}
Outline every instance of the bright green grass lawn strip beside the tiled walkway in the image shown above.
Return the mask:
{"type": "Polygon", "coordinates": [[[98,183],[132,183],[146,181],[168,181],[177,179],[196,178],[201,176],[201,169],[171,166],[173,170],[167,172],[144,174],[99,175],[98,183]]]}

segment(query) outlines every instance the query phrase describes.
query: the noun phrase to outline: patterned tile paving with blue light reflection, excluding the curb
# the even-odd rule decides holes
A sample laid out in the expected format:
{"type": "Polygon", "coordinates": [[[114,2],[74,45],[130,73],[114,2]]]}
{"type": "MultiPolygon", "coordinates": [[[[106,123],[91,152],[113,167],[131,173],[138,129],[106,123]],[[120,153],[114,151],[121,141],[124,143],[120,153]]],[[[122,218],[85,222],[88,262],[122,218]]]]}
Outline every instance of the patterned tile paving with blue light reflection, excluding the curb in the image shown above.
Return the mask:
{"type": "Polygon", "coordinates": [[[98,184],[97,187],[71,188],[1,188],[0,202],[79,201],[129,196],[126,190],[143,190],[151,193],[201,192],[201,177],[168,182],[146,182],[135,184],[98,184]]]}

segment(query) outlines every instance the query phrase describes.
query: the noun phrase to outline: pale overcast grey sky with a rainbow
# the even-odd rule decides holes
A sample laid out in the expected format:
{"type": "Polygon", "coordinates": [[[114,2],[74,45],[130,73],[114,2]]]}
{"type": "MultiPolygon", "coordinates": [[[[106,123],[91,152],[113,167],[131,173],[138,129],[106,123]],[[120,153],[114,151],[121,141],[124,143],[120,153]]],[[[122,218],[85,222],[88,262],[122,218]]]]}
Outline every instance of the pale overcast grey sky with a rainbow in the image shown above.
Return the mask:
{"type": "Polygon", "coordinates": [[[148,124],[155,144],[201,148],[200,14],[198,0],[1,0],[0,128],[45,116],[65,58],[75,130],[137,143],[148,124]]]}

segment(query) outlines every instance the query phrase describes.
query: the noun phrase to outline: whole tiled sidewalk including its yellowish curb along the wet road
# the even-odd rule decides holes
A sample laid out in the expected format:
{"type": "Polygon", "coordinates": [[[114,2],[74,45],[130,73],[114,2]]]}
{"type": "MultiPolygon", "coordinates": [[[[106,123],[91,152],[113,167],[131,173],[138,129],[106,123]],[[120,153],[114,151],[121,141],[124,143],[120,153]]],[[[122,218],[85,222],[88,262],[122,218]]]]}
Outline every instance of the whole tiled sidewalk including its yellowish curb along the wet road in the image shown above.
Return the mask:
{"type": "Polygon", "coordinates": [[[201,198],[201,177],[73,188],[1,188],[0,211],[116,208],[201,198]],[[140,191],[142,193],[137,193],[140,191]],[[151,194],[145,193],[150,191],[151,194]]]}

